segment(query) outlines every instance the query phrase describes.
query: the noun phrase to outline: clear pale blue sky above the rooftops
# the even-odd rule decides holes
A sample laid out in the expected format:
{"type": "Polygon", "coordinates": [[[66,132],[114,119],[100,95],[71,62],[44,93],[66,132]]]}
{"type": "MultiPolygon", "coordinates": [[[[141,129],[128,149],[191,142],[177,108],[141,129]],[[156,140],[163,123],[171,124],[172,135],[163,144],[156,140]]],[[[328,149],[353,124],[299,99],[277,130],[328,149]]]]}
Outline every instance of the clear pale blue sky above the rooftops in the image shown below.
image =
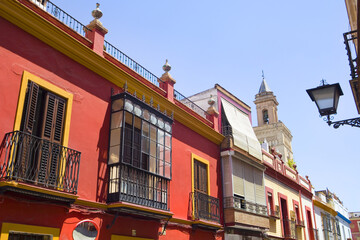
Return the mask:
{"type": "MultiPolygon", "coordinates": [[[[58,1],[83,24],[94,0],[58,1]]],[[[261,71],[277,96],[279,119],[293,135],[294,160],[316,190],[329,188],[360,210],[359,129],[328,127],[306,89],[322,78],[344,96],[334,120],[358,117],[348,80],[343,0],[103,1],[105,39],[157,76],[169,59],[175,89],[190,96],[218,83],[251,106],[261,71]]]]}

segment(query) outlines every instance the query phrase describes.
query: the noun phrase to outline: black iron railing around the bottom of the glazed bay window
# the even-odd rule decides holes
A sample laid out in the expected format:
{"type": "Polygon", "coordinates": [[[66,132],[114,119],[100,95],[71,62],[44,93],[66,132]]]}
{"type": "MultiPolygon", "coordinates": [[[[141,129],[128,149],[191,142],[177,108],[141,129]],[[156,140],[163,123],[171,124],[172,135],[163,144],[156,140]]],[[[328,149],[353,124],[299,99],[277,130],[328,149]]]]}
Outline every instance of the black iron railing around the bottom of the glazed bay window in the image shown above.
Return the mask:
{"type": "Polygon", "coordinates": [[[129,202],[169,210],[170,180],[124,164],[110,166],[108,202],[129,202]]]}

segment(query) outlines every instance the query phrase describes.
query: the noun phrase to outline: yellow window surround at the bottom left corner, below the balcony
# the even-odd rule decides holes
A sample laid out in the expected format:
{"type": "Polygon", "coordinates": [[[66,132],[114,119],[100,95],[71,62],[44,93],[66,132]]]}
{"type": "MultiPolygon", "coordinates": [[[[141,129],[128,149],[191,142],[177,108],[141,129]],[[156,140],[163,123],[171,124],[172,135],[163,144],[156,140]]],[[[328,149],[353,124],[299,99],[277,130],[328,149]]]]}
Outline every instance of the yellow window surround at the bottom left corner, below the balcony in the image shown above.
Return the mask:
{"type": "Polygon", "coordinates": [[[39,227],[34,225],[2,223],[0,240],[8,240],[11,231],[52,235],[53,240],[59,240],[60,229],[52,227],[39,227]]]}

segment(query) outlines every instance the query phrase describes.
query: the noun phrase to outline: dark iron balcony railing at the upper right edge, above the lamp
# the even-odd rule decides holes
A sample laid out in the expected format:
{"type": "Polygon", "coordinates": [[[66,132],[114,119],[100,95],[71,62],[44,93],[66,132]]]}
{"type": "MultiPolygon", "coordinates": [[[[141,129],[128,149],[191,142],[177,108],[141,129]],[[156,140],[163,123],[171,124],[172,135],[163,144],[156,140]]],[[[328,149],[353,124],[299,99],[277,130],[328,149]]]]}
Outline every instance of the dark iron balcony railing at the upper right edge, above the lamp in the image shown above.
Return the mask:
{"type": "Polygon", "coordinates": [[[358,77],[358,66],[356,64],[357,51],[355,47],[357,41],[358,41],[357,30],[344,33],[345,49],[349,59],[350,76],[352,79],[358,77]]]}

